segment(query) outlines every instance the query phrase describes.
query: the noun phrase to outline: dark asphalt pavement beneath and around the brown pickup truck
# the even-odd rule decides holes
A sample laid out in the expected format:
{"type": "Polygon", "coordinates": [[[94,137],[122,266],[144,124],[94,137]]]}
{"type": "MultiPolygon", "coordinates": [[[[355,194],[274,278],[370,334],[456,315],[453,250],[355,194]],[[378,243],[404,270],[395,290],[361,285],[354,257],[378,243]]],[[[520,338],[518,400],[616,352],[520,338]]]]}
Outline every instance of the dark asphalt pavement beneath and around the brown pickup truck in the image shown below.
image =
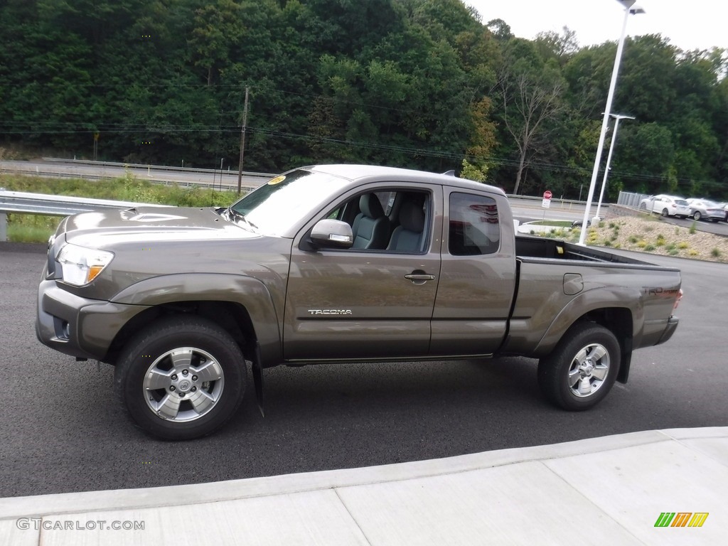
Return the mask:
{"type": "MultiPolygon", "coordinates": [[[[130,424],[111,366],[76,363],[36,340],[44,245],[0,243],[0,496],[213,482],[728,426],[728,266],[631,255],[683,270],[681,323],[667,344],[636,351],[628,384],[615,385],[593,410],[548,405],[536,361],[526,358],[280,366],[264,372],[265,417],[249,384],[227,427],[177,443],[130,424]]],[[[590,471],[575,472],[588,479],[590,471]]]]}

